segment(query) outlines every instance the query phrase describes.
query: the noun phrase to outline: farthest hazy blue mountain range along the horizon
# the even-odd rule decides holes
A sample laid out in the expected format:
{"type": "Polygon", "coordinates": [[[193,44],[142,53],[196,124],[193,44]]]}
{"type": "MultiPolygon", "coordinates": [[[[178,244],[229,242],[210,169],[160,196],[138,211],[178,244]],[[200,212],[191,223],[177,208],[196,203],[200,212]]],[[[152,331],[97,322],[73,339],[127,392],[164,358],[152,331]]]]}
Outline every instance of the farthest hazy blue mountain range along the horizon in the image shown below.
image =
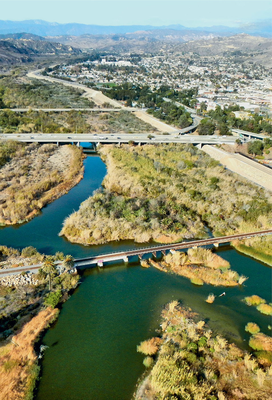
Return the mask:
{"type": "Polygon", "coordinates": [[[211,27],[197,27],[188,28],[180,24],[169,26],[152,26],[152,25],[122,25],[122,26],[100,26],[100,25],[86,25],[86,24],[58,24],[57,22],[47,22],[43,20],[25,20],[25,21],[3,21],[0,20],[0,34],[28,32],[38,36],[62,36],[73,35],[80,36],[84,34],[91,35],[108,35],[108,34],[126,34],[128,32],[158,30],[158,29],[172,29],[172,30],[193,30],[193,31],[206,31],[214,33],[217,36],[220,32],[230,34],[248,33],[254,36],[271,37],[271,20],[263,20],[260,23],[244,24],[240,27],[229,26],[211,26],[211,27]]]}

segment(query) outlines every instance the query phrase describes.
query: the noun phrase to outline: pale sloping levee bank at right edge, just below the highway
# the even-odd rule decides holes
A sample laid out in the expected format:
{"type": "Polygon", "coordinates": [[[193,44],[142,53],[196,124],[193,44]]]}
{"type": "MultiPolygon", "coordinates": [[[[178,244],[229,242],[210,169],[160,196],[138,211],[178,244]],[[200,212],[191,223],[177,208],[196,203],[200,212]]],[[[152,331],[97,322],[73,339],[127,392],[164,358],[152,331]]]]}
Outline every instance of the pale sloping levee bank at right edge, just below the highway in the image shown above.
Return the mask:
{"type": "Polygon", "coordinates": [[[244,176],[244,178],[272,191],[272,171],[266,166],[257,163],[255,166],[254,161],[248,160],[240,154],[229,154],[208,144],[202,146],[201,150],[209,154],[215,160],[220,161],[220,163],[225,165],[229,170],[236,172],[237,174],[244,176]]]}

